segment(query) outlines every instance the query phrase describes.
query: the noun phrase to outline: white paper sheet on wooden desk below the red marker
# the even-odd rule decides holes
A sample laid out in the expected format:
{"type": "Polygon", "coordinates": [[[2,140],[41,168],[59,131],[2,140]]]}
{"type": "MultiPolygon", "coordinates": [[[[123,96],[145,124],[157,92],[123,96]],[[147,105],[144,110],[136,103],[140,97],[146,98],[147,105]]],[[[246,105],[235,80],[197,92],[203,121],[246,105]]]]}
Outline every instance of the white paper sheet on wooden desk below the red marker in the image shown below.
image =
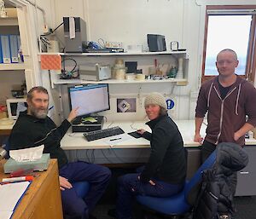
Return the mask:
{"type": "MultiPolygon", "coordinates": [[[[18,201],[26,192],[30,182],[15,182],[0,185],[0,211],[13,211],[18,201]],[[4,199],[3,199],[4,197],[4,199]]],[[[0,217],[2,218],[2,217],[0,217]]]]}

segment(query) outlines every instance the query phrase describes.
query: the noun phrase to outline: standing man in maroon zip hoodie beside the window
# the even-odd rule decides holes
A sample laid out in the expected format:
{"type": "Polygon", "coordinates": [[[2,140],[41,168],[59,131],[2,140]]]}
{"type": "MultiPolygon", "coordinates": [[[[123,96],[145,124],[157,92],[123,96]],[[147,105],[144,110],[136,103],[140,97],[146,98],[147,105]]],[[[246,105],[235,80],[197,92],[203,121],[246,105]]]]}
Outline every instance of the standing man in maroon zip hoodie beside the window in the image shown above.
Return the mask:
{"type": "Polygon", "coordinates": [[[236,75],[238,64],[236,52],[223,49],[216,61],[219,75],[201,85],[195,108],[194,141],[202,143],[202,162],[220,142],[244,146],[245,134],[256,126],[256,89],[236,75]],[[207,135],[202,142],[200,130],[206,112],[207,135]]]}

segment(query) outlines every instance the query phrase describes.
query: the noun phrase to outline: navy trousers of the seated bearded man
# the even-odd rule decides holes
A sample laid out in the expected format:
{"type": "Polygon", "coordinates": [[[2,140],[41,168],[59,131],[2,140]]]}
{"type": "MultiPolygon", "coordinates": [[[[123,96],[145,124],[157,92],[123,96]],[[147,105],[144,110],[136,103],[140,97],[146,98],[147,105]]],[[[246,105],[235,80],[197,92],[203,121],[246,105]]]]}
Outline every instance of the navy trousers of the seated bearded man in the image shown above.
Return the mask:
{"type": "Polygon", "coordinates": [[[105,192],[111,172],[107,167],[79,161],[61,167],[60,176],[67,178],[71,183],[83,181],[90,183],[90,190],[84,199],[79,198],[74,188],[61,191],[64,215],[87,218],[105,192]]]}

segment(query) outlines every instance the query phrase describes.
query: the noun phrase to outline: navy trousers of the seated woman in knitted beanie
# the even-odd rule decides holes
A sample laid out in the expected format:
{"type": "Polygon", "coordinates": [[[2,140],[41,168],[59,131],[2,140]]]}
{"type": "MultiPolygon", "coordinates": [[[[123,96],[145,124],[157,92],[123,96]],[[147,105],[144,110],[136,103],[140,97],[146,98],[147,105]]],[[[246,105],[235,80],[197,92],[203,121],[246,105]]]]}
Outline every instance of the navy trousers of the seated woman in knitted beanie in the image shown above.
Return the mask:
{"type": "Polygon", "coordinates": [[[140,173],[120,176],[118,180],[117,218],[131,218],[131,205],[136,195],[169,197],[183,189],[183,184],[170,184],[152,179],[155,185],[138,180],[140,173]]]}

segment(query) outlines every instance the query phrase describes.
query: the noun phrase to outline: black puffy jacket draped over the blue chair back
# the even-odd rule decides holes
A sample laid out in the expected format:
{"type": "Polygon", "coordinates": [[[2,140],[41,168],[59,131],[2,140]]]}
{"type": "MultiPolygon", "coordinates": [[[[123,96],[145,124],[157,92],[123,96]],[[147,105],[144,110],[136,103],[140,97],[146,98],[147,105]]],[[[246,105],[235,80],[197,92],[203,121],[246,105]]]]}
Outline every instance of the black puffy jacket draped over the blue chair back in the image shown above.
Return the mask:
{"type": "Polygon", "coordinates": [[[203,172],[201,193],[195,208],[195,219],[217,219],[233,215],[233,196],[236,184],[232,178],[236,171],[248,163],[247,153],[237,144],[220,143],[214,167],[203,172]]]}

